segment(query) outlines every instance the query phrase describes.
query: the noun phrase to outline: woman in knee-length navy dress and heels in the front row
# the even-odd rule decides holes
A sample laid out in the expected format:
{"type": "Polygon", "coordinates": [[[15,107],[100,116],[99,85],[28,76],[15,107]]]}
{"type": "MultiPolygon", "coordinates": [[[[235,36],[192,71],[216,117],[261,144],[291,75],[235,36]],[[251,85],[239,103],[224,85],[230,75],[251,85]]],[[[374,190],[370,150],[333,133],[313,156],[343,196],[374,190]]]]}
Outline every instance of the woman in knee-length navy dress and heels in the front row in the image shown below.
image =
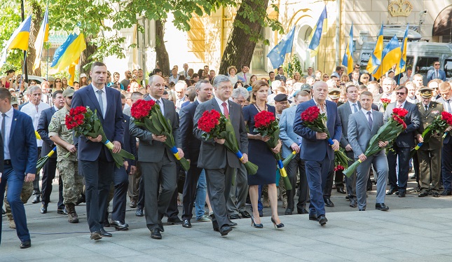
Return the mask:
{"type": "Polygon", "coordinates": [[[249,128],[248,133],[248,158],[256,164],[259,169],[256,174],[248,174],[249,198],[253,209],[252,226],[262,228],[257,202],[259,198],[259,186],[268,185],[268,199],[271,207],[271,220],[281,228],[284,226],[278,217],[278,196],[276,189],[276,160],[273,152],[278,153],[281,143],[274,149],[269,149],[266,142],[270,137],[262,137],[254,132],[254,116],[260,111],[266,110],[275,113],[275,106],[266,104],[268,97],[268,83],[266,81],[254,81],[249,106],[243,108],[245,124],[249,128]]]}

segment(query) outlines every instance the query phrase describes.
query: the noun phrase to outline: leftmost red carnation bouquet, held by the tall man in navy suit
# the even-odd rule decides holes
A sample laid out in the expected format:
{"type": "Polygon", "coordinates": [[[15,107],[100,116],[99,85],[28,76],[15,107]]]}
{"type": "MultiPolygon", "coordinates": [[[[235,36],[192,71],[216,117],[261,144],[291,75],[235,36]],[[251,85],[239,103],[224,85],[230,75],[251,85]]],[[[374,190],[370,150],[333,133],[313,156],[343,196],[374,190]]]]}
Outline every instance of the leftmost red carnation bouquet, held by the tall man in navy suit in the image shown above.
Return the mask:
{"type": "Polygon", "coordinates": [[[124,158],[135,159],[128,151],[121,149],[118,153],[113,153],[113,143],[107,139],[104,132],[104,127],[97,118],[97,110],[91,111],[89,106],[77,106],[69,111],[65,119],[66,127],[69,130],[74,130],[75,136],[79,137],[84,135],[85,137],[97,137],[102,136],[102,144],[107,146],[111,156],[113,156],[116,167],[122,167],[124,165],[124,158]]]}

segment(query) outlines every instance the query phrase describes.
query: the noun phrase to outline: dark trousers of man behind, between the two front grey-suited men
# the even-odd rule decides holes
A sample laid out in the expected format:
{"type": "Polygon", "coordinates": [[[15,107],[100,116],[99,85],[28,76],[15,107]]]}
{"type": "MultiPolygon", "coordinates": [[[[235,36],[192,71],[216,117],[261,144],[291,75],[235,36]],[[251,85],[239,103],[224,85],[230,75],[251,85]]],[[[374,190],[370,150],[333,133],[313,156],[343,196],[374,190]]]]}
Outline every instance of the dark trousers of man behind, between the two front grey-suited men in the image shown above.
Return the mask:
{"type": "Polygon", "coordinates": [[[182,205],[184,206],[182,220],[190,220],[193,217],[196,186],[198,185],[198,179],[202,171],[203,169],[197,167],[197,165],[190,165],[189,171],[186,172],[184,192],[182,193],[182,205]]]}

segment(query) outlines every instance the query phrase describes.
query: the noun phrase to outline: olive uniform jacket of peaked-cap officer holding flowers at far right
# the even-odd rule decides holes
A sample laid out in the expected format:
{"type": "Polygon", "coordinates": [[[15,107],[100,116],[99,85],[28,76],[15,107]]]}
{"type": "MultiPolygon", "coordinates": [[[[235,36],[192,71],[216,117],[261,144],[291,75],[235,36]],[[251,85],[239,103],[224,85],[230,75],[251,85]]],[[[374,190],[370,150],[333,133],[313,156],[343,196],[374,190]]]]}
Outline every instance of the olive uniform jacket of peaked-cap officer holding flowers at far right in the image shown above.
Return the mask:
{"type": "MultiPolygon", "coordinates": [[[[427,111],[425,111],[425,106],[423,103],[418,103],[416,104],[416,106],[418,106],[421,121],[421,125],[419,125],[418,130],[416,130],[415,132],[415,134],[418,135],[424,132],[425,128],[427,128],[427,126],[433,122],[434,118],[441,116],[443,105],[439,104],[438,102],[432,101],[430,102],[427,111]]],[[[441,144],[443,144],[441,139],[442,135],[433,135],[428,143],[424,143],[423,146],[420,147],[420,150],[441,149],[441,144]]]]}

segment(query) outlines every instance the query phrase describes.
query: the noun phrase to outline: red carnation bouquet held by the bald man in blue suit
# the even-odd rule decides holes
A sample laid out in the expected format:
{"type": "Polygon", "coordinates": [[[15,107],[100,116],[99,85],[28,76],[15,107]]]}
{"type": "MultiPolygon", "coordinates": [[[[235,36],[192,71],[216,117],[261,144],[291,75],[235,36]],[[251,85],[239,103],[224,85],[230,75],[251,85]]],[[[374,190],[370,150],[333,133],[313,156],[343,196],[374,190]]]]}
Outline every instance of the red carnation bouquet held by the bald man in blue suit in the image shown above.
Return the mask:
{"type": "MultiPolygon", "coordinates": [[[[301,113],[301,120],[303,120],[303,125],[308,127],[314,132],[324,132],[327,133],[327,141],[330,146],[334,144],[331,135],[327,128],[327,116],[324,113],[320,113],[320,109],[317,106],[308,107],[303,113],[301,113]]],[[[348,167],[348,158],[345,153],[341,150],[334,151],[334,162],[340,164],[343,167],[348,167]]]]}

